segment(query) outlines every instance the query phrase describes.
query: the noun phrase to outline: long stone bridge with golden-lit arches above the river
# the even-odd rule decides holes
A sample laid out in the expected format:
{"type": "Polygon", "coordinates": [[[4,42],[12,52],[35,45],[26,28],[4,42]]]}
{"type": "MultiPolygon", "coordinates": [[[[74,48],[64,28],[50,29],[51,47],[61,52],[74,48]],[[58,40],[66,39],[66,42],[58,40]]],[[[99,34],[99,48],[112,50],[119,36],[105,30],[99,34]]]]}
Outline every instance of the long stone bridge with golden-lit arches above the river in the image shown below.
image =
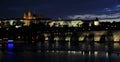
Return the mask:
{"type": "MultiPolygon", "coordinates": [[[[51,35],[51,34],[50,34],[51,35]]],[[[50,40],[50,35],[45,35],[45,40],[50,40]]],[[[54,33],[55,41],[120,41],[120,31],[81,31],[54,33]]]]}

